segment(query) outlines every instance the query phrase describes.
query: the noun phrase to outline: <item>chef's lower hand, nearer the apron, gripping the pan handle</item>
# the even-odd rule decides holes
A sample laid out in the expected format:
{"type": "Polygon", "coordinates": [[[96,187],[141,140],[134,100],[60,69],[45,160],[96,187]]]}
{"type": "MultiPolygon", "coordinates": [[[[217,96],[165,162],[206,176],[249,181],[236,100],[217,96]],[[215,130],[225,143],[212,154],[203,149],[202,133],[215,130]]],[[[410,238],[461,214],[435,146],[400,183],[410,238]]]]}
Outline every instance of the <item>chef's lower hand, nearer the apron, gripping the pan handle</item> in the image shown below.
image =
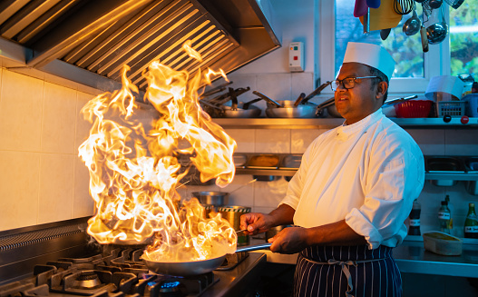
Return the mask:
{"type": "Polygon", "coordinates": [[[268,239],[270,251],[280,253],[301,252],[307,247],[307,229],[302,227],[284,228],[276,236],[268,239]]]}

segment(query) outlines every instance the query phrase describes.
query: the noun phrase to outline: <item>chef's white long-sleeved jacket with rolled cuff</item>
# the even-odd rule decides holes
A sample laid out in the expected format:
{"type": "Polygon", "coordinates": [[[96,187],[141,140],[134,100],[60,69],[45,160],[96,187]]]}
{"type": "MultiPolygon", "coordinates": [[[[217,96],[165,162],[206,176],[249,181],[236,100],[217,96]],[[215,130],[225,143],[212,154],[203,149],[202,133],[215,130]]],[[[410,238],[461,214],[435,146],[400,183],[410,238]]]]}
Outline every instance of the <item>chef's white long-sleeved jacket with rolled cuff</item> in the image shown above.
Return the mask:
{"type": "Polygon", "coordinates": [[[310,228],[346,220],[369,249],[395,247],[424,186],[424,155],[414,139],[379,109],[317,137],[302,157],[281,203],[310,228]]]}

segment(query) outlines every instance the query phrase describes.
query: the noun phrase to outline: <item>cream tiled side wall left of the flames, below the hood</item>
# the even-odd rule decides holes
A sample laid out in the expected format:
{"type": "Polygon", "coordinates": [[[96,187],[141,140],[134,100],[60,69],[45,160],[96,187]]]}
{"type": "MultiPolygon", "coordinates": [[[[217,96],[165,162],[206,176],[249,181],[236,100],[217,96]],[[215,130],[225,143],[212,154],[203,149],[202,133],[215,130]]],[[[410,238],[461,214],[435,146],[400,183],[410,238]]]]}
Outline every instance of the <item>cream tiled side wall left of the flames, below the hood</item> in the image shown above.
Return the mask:
{"type": "Polygon", "coordinates": [[[5,68],[0,77],[0,230],[93,214],[77,148],[94,95],[5,68]]]}

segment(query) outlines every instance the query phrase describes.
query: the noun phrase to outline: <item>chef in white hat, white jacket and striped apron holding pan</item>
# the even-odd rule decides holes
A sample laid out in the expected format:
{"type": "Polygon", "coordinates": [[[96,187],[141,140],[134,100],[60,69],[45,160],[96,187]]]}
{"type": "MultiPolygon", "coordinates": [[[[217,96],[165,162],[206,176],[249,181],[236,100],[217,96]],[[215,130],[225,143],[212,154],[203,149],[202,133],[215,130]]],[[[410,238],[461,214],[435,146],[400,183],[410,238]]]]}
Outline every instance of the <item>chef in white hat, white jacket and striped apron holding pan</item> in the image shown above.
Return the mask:
{"type": "Polygon", "coordinates": [[[401,296],[392,249],[424,186],[424,156],[382,113],[395,61],[379,45],[349,43],[331,84],[344,124],[321,134],[302,157],[286,197],[271,213],[248,213],[241,229],[296,253],[294,296],[401,296]]]}

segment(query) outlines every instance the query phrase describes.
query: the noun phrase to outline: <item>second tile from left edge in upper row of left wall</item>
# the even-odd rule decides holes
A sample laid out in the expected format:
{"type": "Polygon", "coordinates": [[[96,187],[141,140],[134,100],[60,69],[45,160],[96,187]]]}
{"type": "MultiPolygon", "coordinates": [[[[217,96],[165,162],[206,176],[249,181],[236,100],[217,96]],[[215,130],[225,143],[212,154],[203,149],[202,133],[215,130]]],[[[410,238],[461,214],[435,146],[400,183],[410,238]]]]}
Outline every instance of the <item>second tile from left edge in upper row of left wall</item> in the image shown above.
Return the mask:
{"type": "Polygon", "coordinates": [[[76,91],[44,84],[42,152],[75,153],[76,91]]]}

